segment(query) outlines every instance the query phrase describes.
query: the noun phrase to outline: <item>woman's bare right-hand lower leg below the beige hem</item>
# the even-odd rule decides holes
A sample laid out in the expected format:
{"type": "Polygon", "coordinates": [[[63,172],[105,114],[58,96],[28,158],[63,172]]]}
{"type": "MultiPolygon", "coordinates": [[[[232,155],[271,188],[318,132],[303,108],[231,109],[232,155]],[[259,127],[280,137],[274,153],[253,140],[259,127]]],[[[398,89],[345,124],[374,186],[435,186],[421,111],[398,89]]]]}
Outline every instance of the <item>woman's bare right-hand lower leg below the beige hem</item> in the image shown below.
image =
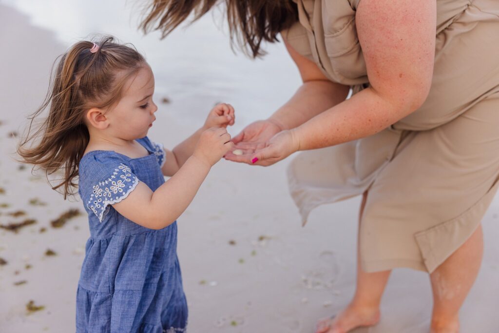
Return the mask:
{"type": "Polygon", "coordinates": [[[477,278],[483,247],[480,225],[456,252],[430,274],[434,302],[432,333],[459,332],[459,309],[477,278]]]}

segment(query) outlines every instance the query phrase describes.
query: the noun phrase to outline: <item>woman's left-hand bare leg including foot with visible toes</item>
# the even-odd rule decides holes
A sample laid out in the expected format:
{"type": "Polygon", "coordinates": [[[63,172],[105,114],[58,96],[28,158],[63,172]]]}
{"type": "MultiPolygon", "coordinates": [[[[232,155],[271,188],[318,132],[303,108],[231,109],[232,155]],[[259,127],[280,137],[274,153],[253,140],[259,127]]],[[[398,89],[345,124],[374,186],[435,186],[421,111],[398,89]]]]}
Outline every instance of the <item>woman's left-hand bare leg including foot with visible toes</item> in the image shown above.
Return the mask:
{"type": "MultiPolygon", "coordinates": [[[[362,197],[359,212],[359,226],[367,192],[362,197]]],[[[359,240],[357,239],[357,286],[355,296],[350,304],[334,319],[321,321],[317,325],[317,333],[346,333],[360,326],[375,325],[379,321],[381,297],[391,271],[367,273],[360,265],[359,240]]]]}

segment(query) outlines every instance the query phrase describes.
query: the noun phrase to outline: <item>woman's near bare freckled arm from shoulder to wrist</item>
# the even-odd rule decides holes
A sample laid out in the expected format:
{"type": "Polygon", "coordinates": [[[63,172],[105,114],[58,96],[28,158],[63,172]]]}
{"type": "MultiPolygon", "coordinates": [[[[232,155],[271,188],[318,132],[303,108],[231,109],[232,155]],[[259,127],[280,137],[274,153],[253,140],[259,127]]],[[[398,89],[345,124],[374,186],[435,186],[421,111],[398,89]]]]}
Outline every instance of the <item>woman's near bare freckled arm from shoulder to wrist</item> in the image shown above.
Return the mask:
{"type": "Polygon", "coordinates": [[[435,0],[362,0],[357,33],[370,87],[292,130],[298,150],[375,134],[428,96],[435,57],[435,0]]]}

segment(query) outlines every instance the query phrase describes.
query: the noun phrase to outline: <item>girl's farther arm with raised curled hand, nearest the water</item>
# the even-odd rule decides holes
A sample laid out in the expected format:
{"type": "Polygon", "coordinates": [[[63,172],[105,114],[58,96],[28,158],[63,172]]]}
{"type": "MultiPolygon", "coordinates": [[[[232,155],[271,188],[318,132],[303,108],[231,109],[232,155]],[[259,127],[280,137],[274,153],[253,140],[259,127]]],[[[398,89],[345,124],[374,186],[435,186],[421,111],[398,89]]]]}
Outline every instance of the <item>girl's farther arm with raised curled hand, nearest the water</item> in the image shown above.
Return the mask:
{"type": "Polygon", "coordinates": [[[217,104],[208,114],[203,127],[198,129],[193,135],[185,141],[173,148],[173,151],[165,149],[166,161],[162,167],[163,175],[173,176],[184,163],[193,154],[196,143],[198,142],[201,133],[205,130],[218,126],[226,128],[228,125],[234,125],[234,108],[230,104],[217,104]]]}

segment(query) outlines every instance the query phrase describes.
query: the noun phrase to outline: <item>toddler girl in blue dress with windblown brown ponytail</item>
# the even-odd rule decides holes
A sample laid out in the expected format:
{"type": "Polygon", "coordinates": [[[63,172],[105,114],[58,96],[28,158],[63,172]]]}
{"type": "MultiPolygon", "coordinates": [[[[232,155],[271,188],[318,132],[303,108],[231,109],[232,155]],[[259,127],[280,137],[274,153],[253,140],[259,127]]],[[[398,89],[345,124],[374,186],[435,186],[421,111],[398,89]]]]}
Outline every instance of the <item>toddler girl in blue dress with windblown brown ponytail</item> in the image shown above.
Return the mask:
{"type": "Polygon", "coordinates": [[[234,108],[215,106],[201,129],[164,149],[147,137],[157,110],[151,68],[112,37],[74,44],[51,89],[30,119],[47,107],[48,117],[18,153],[47,174],[63,171],[53,189],[65,199],[77,187],[88,213],[76,332],[185,332],[176,219],[233,148],[225,127],[234,108]]]}

